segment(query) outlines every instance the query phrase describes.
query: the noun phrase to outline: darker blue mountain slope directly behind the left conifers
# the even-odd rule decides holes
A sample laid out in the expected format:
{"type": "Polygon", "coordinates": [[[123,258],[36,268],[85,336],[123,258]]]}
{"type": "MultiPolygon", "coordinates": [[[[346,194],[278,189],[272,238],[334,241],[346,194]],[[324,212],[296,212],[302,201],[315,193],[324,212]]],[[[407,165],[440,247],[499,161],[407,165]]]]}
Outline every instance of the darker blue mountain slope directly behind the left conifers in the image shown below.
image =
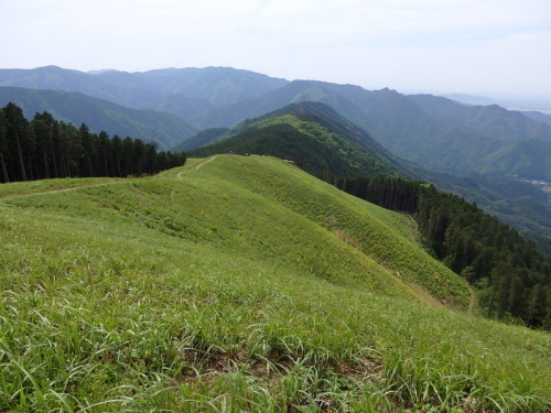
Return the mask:
{"type": "Polygon", "coordinates": [[[77,93],[0,87],[0,106],[13,102],[25,117],[47,111],[55,119],[79,126],[86,123],[96,133],[106,131],[121,138],[130,135],[145,142],[156,142],[161,150],[170,150],[196,130],[184,120],[153,110],[137,110],[91,98],[77,93]]]}

